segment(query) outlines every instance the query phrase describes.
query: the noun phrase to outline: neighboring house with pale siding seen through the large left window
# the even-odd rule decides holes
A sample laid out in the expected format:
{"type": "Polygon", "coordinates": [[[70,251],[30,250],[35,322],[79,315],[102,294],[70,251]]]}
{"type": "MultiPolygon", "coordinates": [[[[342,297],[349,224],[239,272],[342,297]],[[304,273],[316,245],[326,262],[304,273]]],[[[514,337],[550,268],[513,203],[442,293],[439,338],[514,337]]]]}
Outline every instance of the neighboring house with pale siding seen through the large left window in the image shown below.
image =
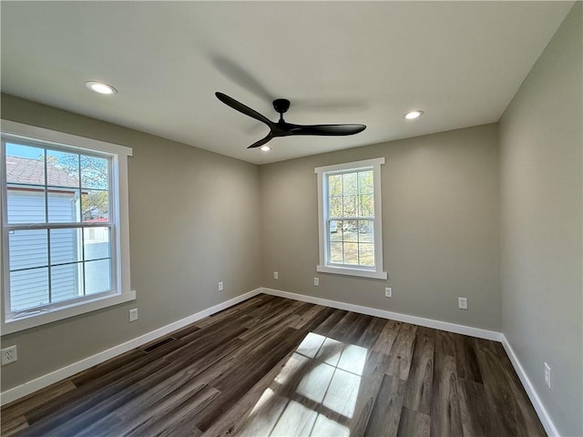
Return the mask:
{"type": "MultiPolygon", "coordinates": [[[[80,202],[88,190],[79,188],[77,177],[47,160],[45,180],[42,158],[7,156],[5,165],[9,223],[81,221],[85,214],[80,202]]],[[[107,217],[84,221],[107,222],[107,217]]],[[[107,228],[18,229],[10,231],[9,239],[13,311],[83,296],[89,291],[87,284],[93,292],[110,287],[109,268],[87,269],[85,284],[83,280],[83,259],[108,257],[107,228]],[[31,246],[45,247],[46,251],[31,254],[31,246]]]]}

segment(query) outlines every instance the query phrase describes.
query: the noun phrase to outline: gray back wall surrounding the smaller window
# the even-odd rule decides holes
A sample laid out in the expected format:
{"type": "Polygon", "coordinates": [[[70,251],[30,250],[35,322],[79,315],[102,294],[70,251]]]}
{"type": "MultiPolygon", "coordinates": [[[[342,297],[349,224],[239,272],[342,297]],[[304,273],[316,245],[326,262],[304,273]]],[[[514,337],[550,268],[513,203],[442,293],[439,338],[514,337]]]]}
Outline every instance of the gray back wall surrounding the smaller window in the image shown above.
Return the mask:
{"type": "Polygon", "coordinates": [[[497,125],[485,125],[261,166],[263,285],[500,330],[498,164],[497,125]],[[389,279],[316,274],[314,168],[379,157],[389,279]]]}

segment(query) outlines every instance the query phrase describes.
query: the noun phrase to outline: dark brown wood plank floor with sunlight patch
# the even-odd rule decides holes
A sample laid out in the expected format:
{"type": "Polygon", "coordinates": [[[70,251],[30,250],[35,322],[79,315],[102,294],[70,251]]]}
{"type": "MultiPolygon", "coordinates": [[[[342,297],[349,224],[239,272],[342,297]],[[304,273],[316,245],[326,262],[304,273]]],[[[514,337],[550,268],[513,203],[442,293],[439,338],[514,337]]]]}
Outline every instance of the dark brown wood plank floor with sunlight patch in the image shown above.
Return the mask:
{"type": "Polygon", "coordinates": [[[22,436],[546,435],[502,345],[260,295],[2,409],[22,436]]]}

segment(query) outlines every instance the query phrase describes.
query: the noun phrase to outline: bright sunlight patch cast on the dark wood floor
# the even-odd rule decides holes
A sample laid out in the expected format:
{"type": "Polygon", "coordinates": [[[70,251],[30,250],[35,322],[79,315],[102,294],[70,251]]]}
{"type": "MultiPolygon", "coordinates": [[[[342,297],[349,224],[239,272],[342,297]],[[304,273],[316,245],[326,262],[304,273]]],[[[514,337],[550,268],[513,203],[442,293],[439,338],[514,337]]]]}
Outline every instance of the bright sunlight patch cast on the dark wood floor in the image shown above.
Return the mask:
{"type": "Polygon", "coordinates": [[[240,430],[253,435],[350,435],[365,348],[310,332],[240,430]]]}

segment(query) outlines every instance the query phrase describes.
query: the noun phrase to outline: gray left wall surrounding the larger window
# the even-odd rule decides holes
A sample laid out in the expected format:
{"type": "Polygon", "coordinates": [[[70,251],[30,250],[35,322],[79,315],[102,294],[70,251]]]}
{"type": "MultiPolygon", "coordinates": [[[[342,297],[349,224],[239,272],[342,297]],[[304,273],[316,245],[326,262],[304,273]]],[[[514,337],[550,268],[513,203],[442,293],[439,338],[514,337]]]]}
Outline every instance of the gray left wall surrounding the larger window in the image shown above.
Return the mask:
{"type": "Polygon", "coordinates": [[[2,95],[2,117],[133,147],[128,302],[2,337],[18,361],[2,391],[261,286],[259,169],[159,137],[2,95]],[[218,292],[218,282],[225,290],[218,292]],[[139,319],[128,322],[128,310],[139,319]]]}

